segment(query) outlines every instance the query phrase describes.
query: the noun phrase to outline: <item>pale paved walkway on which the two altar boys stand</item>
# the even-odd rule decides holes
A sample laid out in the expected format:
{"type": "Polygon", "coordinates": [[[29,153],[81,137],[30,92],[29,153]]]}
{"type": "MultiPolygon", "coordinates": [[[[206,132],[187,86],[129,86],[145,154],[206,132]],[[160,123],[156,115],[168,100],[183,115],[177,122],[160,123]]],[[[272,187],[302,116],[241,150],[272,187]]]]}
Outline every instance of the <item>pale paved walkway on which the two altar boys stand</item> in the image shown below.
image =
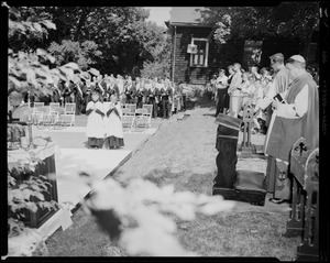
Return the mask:
{"type": "Polygon", "coordinates": [[[61,130],[42,129],[61,149],[55,155],[58,204],[63,206],[40,229],[42,237],[52,235],[59,227],[65,230],[70,223],[72,210],[89,194],[89,188],[79,177],[87,172],[103,179],[113,174],[160,128],[162,120],[152,120],[152,128],[144,131],[124,130],[124,146],[118,150],[91,150],[85,147],[86,118],[77,118],[77,125],[61,130]]]}

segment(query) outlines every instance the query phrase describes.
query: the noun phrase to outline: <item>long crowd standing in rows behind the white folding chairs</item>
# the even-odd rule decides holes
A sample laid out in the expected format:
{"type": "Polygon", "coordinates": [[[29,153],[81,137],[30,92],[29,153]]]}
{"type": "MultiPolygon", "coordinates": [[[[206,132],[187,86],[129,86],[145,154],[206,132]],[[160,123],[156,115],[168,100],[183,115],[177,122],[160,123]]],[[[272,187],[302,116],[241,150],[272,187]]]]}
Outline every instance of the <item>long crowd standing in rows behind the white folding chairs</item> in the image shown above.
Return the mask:
{"type": "MultiPolygon", "coordinates": [[[[169,118],[173,113],[185,108],[184,96],[179,86],[176,86],[166,77],[141,78],[134,80],[131,76],[112,74],[94,76],[85,74],[85,77],[76,81],[59,80],[50,87],[52,95],[30,96],[31,102],[41,101],[45,105],[59,102],[65,106],[68,102],[76,103],[76,114],[85,114],[87,105],[91,101],[91,91],[97,90],[100,101],[110,101],[114,94],[121,105],[135,103],[142,108],[144,103],[153,105],[152,117],[169,118]]],[[[28,101],[28,98],[25,99],[28,101]]]]}

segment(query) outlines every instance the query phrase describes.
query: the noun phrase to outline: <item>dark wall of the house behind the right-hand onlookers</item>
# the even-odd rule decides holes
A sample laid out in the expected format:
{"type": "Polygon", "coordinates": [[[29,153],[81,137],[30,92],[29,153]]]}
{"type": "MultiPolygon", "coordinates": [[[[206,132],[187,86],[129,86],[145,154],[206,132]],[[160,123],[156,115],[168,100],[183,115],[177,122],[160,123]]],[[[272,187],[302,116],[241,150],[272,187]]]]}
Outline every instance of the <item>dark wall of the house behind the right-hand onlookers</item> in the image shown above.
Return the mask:
{"type": "MultiPolygon", "coordinates": [[[[217,45],[212,37],[210,37],[209,42],[208,67],[190,67],[190,54],[187,53],[187,46],[190,44],[191,37],[207,39],[210,33],[210,28],[177,26],[175,83],[184,80],[189,84],[205,85],[215,73],[218,73],[219,68],[227,68],[233,63],[241,63],[242,67],[248,70],[246,63],[243,63],[245,40],[231,40],[226,44],[217,45]]],[[[297,39],[264,40],[260,66],[270,67],[270,56],[275,53],[283,53],[285,58],[288,58],[292,55],[301,54],[301,44],[297,39]]]]}

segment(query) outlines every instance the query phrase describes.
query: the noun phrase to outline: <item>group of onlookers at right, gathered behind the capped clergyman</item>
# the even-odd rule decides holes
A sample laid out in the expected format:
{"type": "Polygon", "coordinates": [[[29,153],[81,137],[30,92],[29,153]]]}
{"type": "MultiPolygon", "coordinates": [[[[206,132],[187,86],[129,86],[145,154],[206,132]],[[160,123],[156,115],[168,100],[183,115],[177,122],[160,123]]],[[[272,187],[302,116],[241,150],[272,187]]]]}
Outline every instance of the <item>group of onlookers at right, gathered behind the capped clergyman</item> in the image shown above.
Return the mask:
{"type": "MultiPolygon", "coordinates": [[[[207,88],[208,98],[216,100],[216,117],[226,113],[234,118],[243,118],[243,109],[250,105],[255,113],[253,118],[252,133],[266,134],[272,117],[271,99],[283,90],[275,90],[275,78],[279,78],[285,70],[283,54],[275,54],[280,63],[273,63],[271,67],[258,68],[252,65],[248,70],[243,69],[240,63],[226,68],[220,68],[219,74],[215,74],[207,88]]],[[[318,85],[318,74],[312,67],[306,68],[307,73],[318,85]]],[[[287,87],[288,77],[282,84],[287,87]]]]}

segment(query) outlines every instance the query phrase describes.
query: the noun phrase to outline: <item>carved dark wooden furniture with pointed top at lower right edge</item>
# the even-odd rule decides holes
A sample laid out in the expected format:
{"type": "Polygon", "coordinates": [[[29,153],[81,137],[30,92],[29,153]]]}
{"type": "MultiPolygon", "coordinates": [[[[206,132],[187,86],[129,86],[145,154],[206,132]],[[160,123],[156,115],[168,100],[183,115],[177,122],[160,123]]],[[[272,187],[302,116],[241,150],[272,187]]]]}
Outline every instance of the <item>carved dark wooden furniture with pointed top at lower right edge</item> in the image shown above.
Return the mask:
{"type": "Polygon", "coordinates": [[[285,237],[301,235],[297,261],[319,260],[319,149],[311,150],[304,138],[293,146],[293,206],[285,237]]]}

